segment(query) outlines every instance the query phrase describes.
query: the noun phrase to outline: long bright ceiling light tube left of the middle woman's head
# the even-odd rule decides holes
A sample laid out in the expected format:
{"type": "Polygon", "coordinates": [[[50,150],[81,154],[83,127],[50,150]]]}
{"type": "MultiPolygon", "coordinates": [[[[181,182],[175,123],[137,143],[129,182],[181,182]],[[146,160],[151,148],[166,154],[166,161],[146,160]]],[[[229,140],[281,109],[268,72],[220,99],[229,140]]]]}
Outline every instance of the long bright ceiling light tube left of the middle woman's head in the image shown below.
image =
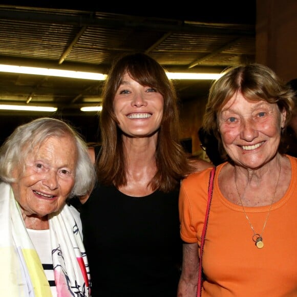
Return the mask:
{"type": "Polygon", "coordinates": [[[13,66],[0,64],[0,72],[23,73],[23,74],[36,74],[46,76],[70,77],[92,80],[104,80],[107,75],[94,72],[61,70],[40,67],[26,67],[26,66],[13,66]]]}

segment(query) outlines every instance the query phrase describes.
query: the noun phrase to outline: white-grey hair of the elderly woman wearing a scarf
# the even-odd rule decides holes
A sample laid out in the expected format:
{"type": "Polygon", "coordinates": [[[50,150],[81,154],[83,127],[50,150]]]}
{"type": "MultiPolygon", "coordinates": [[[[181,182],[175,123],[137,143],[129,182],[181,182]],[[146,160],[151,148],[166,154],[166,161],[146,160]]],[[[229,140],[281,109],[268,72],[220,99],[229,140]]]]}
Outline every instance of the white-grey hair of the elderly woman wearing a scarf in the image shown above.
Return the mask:
{"type": "MultiPolygon", "coordinates": [[[[12,177],[16,167],[23,166],[25,159],[36,147],[50,137],[70,136],[77,149],[75,182],[69,198],[90,193],[94,187],[96,174],[88,153],[88,146],[80,134],[65,121],[54,118],[38,118],[18,126],[0,148],[0,178],[6,183],[15,182],[12,177]]],[[[61,147],[63,150],[63,147],[61,147]]]]}

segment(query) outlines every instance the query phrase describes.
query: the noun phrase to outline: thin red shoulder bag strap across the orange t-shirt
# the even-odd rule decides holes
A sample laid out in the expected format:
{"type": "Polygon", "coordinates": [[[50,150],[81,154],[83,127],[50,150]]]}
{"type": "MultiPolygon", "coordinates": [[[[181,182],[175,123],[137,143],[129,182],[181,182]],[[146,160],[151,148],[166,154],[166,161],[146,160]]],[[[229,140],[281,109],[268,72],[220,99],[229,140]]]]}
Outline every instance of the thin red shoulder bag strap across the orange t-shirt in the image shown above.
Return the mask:
{"type": "Polygon", "coordinates": [[[206,207],[204,225],[203,225],[203,230],[202,230],[202,235],[201,235],[201,246],[200,246],[199,268],[198,268],[197,297],[201,296],[201,290],[202,290],[202,255],[203,255],[205,234],[206,234],[206,229],[207,229],[207,222],[208,222],[208,217],[209,217],[211,197],[213,196],[215,173],[216,173],[216,167],[214,167],[211,170],[210,175],[209,175],[208,200],[207,200],[207,207],[206,207]]]}

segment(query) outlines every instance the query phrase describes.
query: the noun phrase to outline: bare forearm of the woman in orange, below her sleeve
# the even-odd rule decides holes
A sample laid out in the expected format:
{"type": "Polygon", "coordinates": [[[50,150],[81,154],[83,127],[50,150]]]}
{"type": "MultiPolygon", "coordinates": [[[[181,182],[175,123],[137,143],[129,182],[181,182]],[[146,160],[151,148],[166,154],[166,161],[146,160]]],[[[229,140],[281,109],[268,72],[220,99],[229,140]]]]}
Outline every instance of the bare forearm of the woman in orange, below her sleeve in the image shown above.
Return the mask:
{"type": "Polygon", "coordinates": [[[178,297],[196,297],[199,255],[197,243],[183,244],[182,272],[178,284],[178,297]]]}

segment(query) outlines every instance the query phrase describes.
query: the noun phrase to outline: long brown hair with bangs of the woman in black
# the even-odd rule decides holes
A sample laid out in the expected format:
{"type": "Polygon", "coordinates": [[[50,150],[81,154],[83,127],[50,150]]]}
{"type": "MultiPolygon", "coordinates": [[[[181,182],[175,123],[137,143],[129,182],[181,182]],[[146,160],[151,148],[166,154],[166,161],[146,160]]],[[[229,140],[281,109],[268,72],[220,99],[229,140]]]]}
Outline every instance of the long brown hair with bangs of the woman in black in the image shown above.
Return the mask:
{"type": "Polygon", "coordinates": [[[143,53],[121,56],[113,63],[104,83],[100,114],[101,150],[97,162],[99,183],[114,184],[116,187],[127,183],[122,131],[118,128],[113,107],[116,91],[125,73],[129,73],[142,86],[156,89],[164,98],[163,118],[155,152],[157,173],[151,180],[151,186],[154,190],[169,192],[177,187],[180,179],[192,168],[179,140],[178,98],[173,83],[159,63],[143,53]]]}

